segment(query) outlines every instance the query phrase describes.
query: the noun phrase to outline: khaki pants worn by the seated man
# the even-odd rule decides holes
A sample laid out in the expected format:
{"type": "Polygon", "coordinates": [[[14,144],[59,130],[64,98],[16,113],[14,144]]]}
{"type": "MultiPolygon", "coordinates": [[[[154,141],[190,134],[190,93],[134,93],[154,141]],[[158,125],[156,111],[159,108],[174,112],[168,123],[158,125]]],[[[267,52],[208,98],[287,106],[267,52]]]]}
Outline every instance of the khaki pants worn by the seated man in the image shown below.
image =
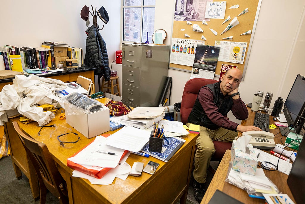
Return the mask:
{"type": "MultiPolygon", "coordinates": [[[[192,123],[187,123],[186,126],[192,123]]],[[[237,137],[238,132],[227,130],[224,128],[217,128],[210,130],[200,126],[200,135],[196,140],[196,153],[195,153],[195,169],[194,178],[199,183],[206,182],[206,170],[210,165],[212,156],[215,153],[213,140],[232,142],[237,137]]]]}

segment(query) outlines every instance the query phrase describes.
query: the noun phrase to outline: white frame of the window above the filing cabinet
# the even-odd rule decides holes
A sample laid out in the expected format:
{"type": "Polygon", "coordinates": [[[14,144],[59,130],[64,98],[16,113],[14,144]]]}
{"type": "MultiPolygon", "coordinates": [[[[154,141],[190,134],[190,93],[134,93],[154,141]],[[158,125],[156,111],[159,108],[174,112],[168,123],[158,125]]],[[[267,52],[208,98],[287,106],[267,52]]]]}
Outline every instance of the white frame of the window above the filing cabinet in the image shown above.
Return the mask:
{"type": "MultiPolygon", "coordinates": [[[[121,29],[122,29],[122,32],[121,32],[121,43],[133,43],[135,41],[127,41],[127,40],[124,40],[124,9],[125,8],[141,8],[141,26],[140,26],[140,31],[141,31],[141,34],[140,34],[140,41],[139,43],[142,43],[142,36],[143,36],[143,10],[144,8],[155,8],[155,16],[156,16],[156,2],[155,2],[155,5],[147,5],[147,6],[144,6],[144,1],[145,0],[141,0],[141,6],[124,6],[124,0],[122,0],[122,13],[121,13],[121,29]]],[[[155,20],[154,20],[155,21],[155,20]]],[[[145,42],[143,42],[145,43],[145,42]]]]}

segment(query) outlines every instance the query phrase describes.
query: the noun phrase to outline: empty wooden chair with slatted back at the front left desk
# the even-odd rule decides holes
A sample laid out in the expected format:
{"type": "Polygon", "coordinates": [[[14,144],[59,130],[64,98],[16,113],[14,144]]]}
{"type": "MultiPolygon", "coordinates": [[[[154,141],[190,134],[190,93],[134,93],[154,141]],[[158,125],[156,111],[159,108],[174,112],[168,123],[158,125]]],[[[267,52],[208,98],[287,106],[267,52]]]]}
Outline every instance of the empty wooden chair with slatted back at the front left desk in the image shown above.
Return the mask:
{"type": "Polygon", "coordinates": [[[13,122],[13,126],[36,170],[40,203],[46,202],[47,189],[59,199],[60,203],[69,203],[66,182],[56,168],[48,147],[25,134],[16,121],[13,122]]]}

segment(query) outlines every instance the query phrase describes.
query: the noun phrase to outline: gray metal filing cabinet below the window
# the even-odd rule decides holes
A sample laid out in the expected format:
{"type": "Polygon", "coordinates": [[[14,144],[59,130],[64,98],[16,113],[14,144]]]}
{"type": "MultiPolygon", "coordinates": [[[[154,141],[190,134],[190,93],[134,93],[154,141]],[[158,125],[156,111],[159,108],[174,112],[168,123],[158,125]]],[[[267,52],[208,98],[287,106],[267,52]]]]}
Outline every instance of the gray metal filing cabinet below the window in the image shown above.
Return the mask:
{"type": "Polygon", "coordinates": [[[122,99],[132,107],[159,106],[170,46],[122,43],[122,99]]]}

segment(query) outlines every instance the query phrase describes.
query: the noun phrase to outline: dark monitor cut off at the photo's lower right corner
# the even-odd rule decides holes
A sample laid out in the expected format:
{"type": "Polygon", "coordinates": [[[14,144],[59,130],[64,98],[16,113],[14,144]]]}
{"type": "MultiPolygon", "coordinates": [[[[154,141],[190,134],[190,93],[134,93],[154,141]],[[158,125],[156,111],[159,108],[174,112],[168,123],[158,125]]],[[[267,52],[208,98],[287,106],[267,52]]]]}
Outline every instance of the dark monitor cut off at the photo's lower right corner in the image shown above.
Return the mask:
{"type": "Polygon", "coordinates": [[[305,142],[302,140],[296,159],[287,179],[287,184],[296,200],[296,203],[304,203],[305,200],[305,142]]]}

